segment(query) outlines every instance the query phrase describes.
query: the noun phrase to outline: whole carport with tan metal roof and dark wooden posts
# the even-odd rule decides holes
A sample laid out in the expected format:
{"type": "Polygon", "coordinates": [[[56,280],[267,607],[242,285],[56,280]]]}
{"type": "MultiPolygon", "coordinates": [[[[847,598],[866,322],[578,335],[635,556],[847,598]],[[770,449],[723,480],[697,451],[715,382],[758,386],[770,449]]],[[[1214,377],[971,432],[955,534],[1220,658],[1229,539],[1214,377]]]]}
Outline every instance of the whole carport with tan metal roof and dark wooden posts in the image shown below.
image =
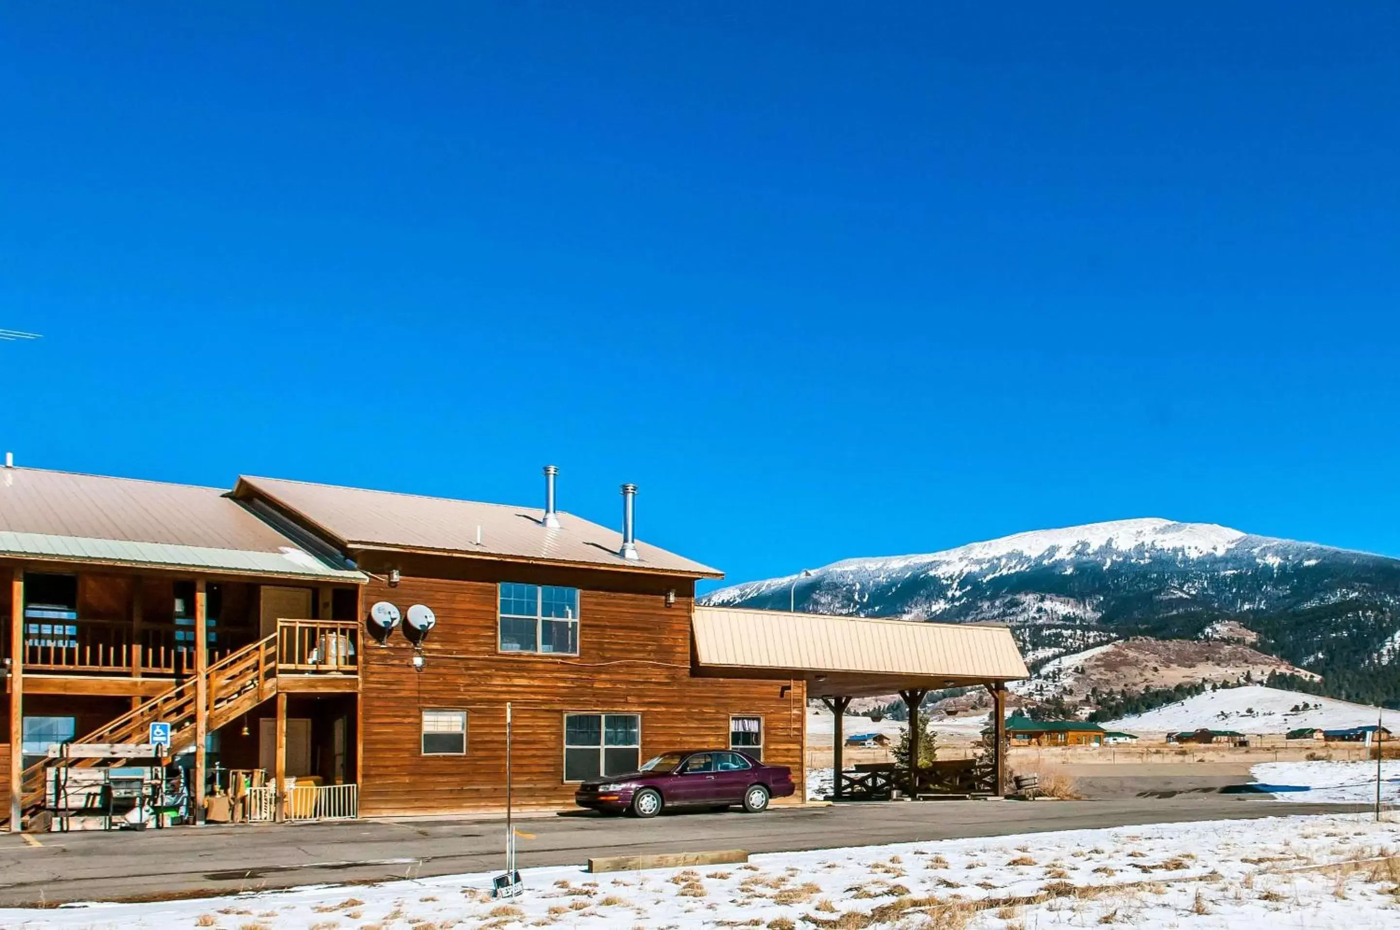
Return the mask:
{"type": "Polygon", "coordinates": [[[925,623],[865,616],[697,606],[697,676],[806,682],[834,716],[834,794],[868,787],[841,766],[843,716],[854,698],[897,693],[909,707],[910,754],[903,789],[917,797],[928,772],[918,766],[920,705],[931,690],[984,686],[993,699],[994,794],[1007,786],[1007,682],[1029,678],[1011,630],[1001,625],[925,623]]]}

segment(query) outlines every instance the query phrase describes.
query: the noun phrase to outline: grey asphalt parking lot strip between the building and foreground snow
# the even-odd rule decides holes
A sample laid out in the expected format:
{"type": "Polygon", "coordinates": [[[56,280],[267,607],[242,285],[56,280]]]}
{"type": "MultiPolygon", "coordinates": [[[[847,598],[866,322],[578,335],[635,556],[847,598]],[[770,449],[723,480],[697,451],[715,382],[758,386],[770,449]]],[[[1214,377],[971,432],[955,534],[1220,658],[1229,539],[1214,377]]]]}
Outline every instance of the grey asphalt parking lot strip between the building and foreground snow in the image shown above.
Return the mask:
{"type": "MultiPolygon", "coordinates": [[[[1186,793],[1093,801],[928,801],[774,807],[650,821],[595,814],[517,818],[519,866],[589,856],[746,849],[753,853],[1284,814],[1343,805],[1186,793]]],[[[234,894],[315,882],[480,873],[503,866],[505,821],[402,818],[335,824],[0,835],[0,906],[234,894]]]]}

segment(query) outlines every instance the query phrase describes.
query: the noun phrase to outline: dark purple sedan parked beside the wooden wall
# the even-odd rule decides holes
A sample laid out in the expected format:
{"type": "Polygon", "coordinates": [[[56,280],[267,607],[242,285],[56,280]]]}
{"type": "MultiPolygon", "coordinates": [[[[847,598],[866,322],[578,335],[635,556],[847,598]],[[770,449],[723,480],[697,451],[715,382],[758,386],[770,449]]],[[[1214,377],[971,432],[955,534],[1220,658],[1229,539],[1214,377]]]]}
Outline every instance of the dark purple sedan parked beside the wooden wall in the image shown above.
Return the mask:
{"type": "Polygon", "coordinates": [[[664,752],[638,772],[585,782],[574,801],[605,814],[655,817],[664,807],[724,808],[742,804],[749,814],[769,807],[769,798],[794,791],[792,772],[763,765],[734,749],[664,752]]]}

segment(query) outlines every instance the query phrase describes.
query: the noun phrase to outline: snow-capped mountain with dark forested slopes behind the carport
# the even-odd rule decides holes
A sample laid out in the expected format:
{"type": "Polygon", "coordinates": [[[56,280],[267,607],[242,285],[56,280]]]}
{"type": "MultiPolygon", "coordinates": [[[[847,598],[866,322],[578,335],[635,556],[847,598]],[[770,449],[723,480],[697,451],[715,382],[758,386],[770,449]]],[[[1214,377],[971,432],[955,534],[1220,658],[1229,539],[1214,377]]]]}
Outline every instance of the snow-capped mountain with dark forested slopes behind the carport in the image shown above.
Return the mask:
{"type": "Polygon", "coordinates": [[[1001,622],[1035,668],[1126,639],[1257,637],[1333,693],[1400,702],[1400,560],[1215,524],[1119,520],[927,555],[846,559],[701,601],[1001,622]]]}

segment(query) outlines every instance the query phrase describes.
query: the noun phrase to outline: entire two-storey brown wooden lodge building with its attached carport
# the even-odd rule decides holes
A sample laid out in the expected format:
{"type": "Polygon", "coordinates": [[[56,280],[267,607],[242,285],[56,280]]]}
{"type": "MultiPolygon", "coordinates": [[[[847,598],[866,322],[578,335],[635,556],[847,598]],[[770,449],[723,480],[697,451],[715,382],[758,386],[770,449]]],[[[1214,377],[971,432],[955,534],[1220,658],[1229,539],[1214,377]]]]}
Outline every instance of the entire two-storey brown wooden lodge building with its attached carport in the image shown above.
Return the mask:
{"type": "Polygon", "coordinates": [[[0,468],[10,829],[172,758],[200,818],[235,787],[249,819],[498,810],[507,702],[518,805],[722,747],[799,800],[809,696],[899,690],[917,724],[930,689],[986,685],[1000,721],[1026,676],[1005,627],[697,608],[721,573],[637,541],[633,486],[619,532],[557,511],[554,472],[531,508],[0,468]]]}

